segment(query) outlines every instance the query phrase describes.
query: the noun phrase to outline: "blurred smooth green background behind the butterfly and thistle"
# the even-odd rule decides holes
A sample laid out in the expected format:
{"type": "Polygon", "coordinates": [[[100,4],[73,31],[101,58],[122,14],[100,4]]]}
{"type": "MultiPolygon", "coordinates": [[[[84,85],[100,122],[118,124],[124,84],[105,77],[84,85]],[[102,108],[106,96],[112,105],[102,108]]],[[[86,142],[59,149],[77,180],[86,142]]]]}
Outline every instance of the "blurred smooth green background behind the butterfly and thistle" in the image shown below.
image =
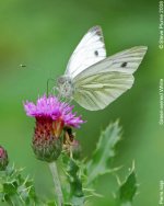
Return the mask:
{"type": "MultiPolygon", "coordinates": [[[[23,101],[46,91],[46,80],[57,78],[81,37],[93,25],[104,31],[108,55],[147,45],[148,54],[136,72],[130,91],[99,112],[75,105],[87,121],[77,131],[83,156],[90,157],[99,133],[109,122],[120,119],[124,139],[116,165],[125,178],[136,161],[139,195],[134,206],[159,204],[160,180],[164,180],[164,127],[159,125],[159,81],[163,77],[164,54],[159,49],[157,1],[132,0],[7,0],[0,2],[0,144],[8,149],[10,162],[25,167],[35,180],[37,193],[52,195],[50,173],[35,159],[31,139],[34,119],[26,117],[23,101]],[[20,65],[25,64],[26,68],[20,65]]],[[[97,191],[105,198],[90,205],[114,205],[117,188],[114,176],[101,178],[97,191]]]]}

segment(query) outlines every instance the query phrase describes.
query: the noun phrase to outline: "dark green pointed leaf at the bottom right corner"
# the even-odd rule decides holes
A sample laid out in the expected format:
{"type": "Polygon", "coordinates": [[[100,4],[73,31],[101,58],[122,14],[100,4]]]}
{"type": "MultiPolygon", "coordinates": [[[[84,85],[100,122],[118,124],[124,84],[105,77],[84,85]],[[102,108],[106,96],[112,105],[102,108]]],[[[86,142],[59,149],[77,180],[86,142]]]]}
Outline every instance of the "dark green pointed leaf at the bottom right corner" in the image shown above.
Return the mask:
{"type": "Polygon", "coordinates": [[[129,175],[124,183],[120,184],[118,191],[119,205],[131,206],[132,199],[137,193],[137,179],[134,172],[134,165],[132,167],[129,175]]]}

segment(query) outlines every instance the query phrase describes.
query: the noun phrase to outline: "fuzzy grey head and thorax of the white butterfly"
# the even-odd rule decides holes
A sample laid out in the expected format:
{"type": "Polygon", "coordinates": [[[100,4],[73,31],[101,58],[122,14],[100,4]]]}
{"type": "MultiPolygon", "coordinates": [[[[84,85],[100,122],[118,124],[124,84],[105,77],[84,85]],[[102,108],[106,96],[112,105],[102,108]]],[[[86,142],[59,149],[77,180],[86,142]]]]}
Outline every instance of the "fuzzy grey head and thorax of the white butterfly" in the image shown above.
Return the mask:
{"type": "Polygon", "coordinates": [[[73,95],[73,84],[71,78],[68,76],[61,76],[57,80],[57,88],[59,95],[62,98],[70,99],[73,95]]]}

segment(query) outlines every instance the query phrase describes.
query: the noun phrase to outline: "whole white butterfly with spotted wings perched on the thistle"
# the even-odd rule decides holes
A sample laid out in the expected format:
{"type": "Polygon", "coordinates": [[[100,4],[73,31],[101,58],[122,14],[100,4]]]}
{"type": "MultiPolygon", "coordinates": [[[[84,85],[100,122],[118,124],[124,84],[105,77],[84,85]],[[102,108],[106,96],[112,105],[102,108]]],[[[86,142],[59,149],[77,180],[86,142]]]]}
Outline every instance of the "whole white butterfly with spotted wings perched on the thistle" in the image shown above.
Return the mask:
{"type": "Polygon", "coordinates": [[[73,52],[65,75],[58,78],[59,94],[86,110],[103,110],[132,87],[132,73],[145,52],[147,46],[136,46],[106,58],[102,28],[94,26],[73,52]]]}

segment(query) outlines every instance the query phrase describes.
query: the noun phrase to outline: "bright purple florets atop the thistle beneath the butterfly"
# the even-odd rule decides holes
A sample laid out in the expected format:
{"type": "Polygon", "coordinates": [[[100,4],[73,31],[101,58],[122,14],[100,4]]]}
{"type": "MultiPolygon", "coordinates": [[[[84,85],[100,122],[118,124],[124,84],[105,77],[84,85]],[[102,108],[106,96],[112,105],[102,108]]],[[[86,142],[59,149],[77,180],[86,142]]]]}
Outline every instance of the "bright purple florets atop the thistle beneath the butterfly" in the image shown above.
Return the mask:
{"type": "Polygon", "coordinates": [[[65,126],[79,127],[84,121],[77,113],[72,113],[73,106],[68,103],[60,102],[56,96],[46,95],[39,98],[34,104],[33,102],[25,102],[24,108],[27,116],[49,117],[52,121],[62,119],[65,126]]]}

